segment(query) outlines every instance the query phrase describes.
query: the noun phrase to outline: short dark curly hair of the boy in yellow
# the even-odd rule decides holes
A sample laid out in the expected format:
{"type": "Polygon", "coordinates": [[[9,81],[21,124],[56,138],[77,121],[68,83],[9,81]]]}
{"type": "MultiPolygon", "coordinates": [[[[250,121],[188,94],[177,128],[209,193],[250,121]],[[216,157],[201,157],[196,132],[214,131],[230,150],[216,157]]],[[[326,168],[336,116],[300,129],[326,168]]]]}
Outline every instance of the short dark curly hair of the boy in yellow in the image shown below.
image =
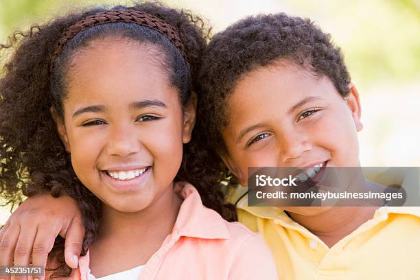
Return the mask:
{"type": "MultiPolygon", "coordinates": [[[[350,75],[340,48],[310,19],[284,13],[249,16],[215,34],[203,56],[196,126],[203,147],[227,152],[220,131],[229,121],[229,95],[246,73],[281,60],[326,76],[343,97],[349,93],[350,75]]],[[[216,173],[219,168],[220,173],[221,160],[215,154],[209,154],[208,162],[214,164],[207,168],[216,173]]]]}

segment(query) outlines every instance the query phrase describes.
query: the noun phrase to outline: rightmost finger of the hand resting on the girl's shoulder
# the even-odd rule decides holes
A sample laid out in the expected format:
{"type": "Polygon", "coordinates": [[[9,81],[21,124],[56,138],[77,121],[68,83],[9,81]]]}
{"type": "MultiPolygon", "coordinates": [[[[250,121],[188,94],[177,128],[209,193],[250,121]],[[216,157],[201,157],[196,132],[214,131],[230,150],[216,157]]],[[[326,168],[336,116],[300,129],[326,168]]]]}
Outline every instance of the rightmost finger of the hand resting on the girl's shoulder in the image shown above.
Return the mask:
{"type": "Polygon", "coordinates": [[[67,229],[65,241],[65,260],[71,268],[78,267],[78,259],[82,252],[84,224],[80,219],[73,219],[67,229]]]}

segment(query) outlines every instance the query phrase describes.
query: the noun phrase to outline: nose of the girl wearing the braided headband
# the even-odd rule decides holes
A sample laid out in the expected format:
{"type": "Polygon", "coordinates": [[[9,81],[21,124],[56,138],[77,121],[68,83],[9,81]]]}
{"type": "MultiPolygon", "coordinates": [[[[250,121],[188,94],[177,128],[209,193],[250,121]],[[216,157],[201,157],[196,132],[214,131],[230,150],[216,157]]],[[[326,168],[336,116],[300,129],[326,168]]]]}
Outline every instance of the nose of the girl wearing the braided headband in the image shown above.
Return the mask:
{"type": "Polygon", "coordinates": [[[106,152],[112,156],[126,157],[141,150],[139,137],[129,128],[118,128],[111,132],[106,152]]]}

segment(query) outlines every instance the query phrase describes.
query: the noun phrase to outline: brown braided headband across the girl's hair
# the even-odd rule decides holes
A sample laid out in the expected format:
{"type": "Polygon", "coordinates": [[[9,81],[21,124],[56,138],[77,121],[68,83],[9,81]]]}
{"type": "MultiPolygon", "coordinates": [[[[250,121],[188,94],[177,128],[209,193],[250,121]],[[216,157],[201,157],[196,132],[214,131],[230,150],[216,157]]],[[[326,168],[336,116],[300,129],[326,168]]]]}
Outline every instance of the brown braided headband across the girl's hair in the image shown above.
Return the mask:
{"type": "Polygon", "coordinates": [[[97,12],[91,16],[87,16],[85,19],[82,19],[74,25],[71,25],[71,27],[65,31],[60,40],[58,40],[56,51],[54,51],[54,55],[51,60],[51,69],[53,68],[54,61],[62,51],[63,47],[76,34],[88,29],[89,27],[116,22],[136,23],[138,25],[152,28],[153,30],[156,30],[157,32],[165,35],[171,40],[175,47],[180,50],[180,53],[183,55],[183,58],[187,62],[184,45],[181,42],[178,33],[174,30],[172,25],[166,21],[163,21],[163,19],[159,19],[157,16],[153,16],[152,14],[137,10],[108,10],[106,12],[97,12]]]}

